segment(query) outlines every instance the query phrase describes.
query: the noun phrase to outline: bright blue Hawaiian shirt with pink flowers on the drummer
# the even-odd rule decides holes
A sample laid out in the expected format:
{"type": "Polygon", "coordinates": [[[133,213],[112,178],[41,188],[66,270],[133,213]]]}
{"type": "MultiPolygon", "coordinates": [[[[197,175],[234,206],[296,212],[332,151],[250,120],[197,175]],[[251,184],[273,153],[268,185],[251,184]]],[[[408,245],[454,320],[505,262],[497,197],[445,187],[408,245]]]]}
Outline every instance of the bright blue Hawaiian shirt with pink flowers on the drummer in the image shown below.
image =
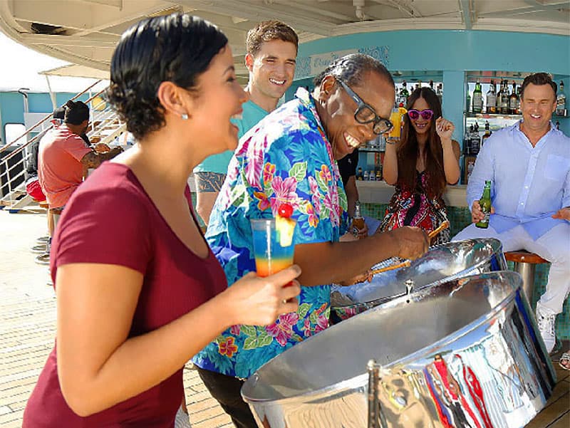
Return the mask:
{"type": "MultiPolygon", "coordinates": [[[[206,234],[232,284],[255,271],[250,219],[294,208],[294,244],[338,241],[346,194],[314,99],[300,88],[239,142],[206,234]]],[[[271,358],[328,327],[330,284],[301,286],[299,309],[271,325],[233,325],[194,357],[198,367],[249,377],[271,358]]]]}

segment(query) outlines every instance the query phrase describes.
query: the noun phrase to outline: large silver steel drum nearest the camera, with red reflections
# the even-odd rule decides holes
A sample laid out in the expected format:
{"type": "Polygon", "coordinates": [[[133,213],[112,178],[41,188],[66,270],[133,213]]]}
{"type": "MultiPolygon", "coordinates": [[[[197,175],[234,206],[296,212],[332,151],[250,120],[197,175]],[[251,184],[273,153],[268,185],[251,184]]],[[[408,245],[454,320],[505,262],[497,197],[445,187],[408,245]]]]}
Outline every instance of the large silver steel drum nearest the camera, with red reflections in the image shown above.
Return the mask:
{"type": "Polygon", "coordinates": [[[267,362],[242,396],[259,427],[516,428],[554,384],[522,279],[499,271],[333,325],[267,362]]]}

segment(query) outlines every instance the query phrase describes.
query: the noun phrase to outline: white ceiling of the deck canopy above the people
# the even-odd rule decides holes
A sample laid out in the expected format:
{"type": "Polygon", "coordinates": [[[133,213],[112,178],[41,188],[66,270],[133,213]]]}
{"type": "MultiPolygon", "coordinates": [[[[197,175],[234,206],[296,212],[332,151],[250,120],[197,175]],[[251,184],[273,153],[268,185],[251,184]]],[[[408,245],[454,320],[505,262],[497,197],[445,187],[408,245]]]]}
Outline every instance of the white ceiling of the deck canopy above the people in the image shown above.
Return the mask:
{"type": "Polygon", "coordinates": [[[108,71],[113,48],[130,24],[172,11],[202,16],[220,26],[243,78],[245,35],[265,19],[289,24],[301,43],[405,29],[570,36],[570,0],[0,0],[0,30],[49,56],[108,71]]]}

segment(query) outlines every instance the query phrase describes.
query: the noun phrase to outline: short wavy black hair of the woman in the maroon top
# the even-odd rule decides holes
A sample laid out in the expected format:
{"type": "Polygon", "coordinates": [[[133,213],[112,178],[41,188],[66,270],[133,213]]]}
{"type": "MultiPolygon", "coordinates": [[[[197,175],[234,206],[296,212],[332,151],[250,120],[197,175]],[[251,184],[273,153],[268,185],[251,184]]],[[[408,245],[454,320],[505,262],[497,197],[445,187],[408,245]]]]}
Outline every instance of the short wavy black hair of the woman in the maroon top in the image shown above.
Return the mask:
{"type": "Polygon", "coordinates": [[[172,14],[145,19],[121,37],[111,61],[106,98],[137,140],[165,125],[157,98],[160,83],[170,81],[197,93],[196,81],[227,37],[197,16],[172,14]]]}

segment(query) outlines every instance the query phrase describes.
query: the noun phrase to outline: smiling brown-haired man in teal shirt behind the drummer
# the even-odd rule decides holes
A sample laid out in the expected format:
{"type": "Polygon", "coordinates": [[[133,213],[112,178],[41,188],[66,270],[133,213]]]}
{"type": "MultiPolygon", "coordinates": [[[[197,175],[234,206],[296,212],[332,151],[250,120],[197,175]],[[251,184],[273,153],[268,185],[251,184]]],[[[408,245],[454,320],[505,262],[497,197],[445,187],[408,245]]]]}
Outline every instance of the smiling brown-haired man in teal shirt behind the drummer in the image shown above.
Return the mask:
{"type": "MultiPolygon", "coordinates": [[[[275,110],[293,83],[298,45],[299,38],[293,28],[281,21],[263,21],[247,32],[245,64],[249,83],[245,90],[249,101],[242,105],[242,118],[234,121],[239,127],[239,138],[275,110]]],[[[196,211],[206,225],[232,155],[234,152],[227,150],[207,157],[194,169],[196,211]]]]}

